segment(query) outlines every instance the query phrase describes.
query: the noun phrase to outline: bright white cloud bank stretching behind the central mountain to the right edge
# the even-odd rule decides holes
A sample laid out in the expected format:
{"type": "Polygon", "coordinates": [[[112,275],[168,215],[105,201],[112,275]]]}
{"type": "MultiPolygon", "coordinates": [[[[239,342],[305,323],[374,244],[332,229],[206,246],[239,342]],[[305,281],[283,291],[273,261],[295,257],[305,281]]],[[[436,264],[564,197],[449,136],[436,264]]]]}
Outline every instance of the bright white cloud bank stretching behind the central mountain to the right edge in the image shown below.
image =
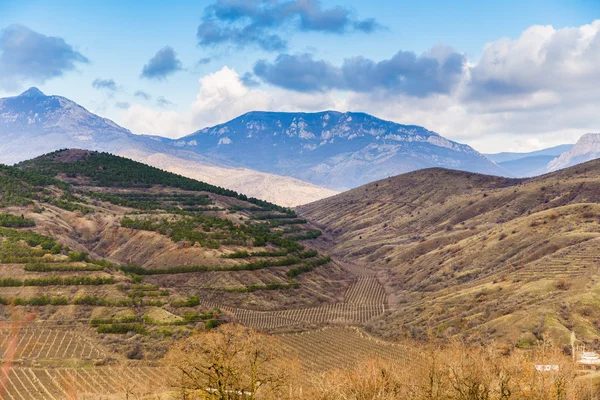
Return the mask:
{"type": "Polygon", "coordinates": [[[488,43],[449,94],[249,88],[228,67],[199,82],[188,112],[133,105],[120,122],[136,133],[179,137],[252,110],[336,109],[422,125],[483,152],[534,150],[600,131],[600,20],[563,29],[532,26],[516,39],[488,43]]]}

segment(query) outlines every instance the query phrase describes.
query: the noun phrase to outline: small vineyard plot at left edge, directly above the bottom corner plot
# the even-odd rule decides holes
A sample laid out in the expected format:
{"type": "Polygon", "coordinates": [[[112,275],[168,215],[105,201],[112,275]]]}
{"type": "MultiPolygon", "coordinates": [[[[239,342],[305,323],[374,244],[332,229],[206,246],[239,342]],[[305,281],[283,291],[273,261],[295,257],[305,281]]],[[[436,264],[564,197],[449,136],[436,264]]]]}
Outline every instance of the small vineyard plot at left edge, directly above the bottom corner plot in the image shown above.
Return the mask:
{"type": "MultiPolygon", "coordinates": [[[[6,358],[10,331],[0,329],[0,360],[6,358]]],[[[106,354],[75,332],[66,329],[23,329],[14,340],[14,359],[100,359],[106,354]]]]}

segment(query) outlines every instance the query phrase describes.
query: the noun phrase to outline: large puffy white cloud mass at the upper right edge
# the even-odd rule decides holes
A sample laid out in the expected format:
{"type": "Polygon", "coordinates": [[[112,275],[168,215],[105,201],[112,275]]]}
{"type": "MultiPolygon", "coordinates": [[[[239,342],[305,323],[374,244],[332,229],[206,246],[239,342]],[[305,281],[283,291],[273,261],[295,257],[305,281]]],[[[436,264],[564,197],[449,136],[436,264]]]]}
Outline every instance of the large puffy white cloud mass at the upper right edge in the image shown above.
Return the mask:
{"type": "Polygon", "coordinates": [[[600,20],[576,28],[533,26],[517,39],[487,44],[470,69],[466,95],[499,103],[499,110],[510,99],[534,99],[545,107],[566,95],[597,97],[598,83],[600,20]]]}

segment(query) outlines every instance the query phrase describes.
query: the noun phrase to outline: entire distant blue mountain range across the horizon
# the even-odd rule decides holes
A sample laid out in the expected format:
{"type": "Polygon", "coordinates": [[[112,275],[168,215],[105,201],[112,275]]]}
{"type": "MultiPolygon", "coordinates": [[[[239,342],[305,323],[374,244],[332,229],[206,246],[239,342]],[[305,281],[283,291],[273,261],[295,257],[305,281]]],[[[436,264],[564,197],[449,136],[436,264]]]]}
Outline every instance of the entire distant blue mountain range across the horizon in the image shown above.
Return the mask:
{"type": "Polygon", "coordinates": [[[365,113],[255,111],[174,140],[134,134],[37,88],[0,99],[2,163],[61,148],[98,150],[284,206],[430,167],[538,175],[596,157],[598,136],[582,138],[574,148],[484,156],[426,128],[365,113]]]}

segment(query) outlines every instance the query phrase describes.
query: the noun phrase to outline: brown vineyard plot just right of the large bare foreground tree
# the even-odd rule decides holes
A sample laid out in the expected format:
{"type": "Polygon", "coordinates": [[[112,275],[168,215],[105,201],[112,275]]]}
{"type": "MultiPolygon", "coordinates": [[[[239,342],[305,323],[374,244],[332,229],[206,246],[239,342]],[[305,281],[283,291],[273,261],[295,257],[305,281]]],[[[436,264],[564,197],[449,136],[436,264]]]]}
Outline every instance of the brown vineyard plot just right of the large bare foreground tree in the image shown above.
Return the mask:
{"type": "Polygon", "coordinates": [[[279,338],[284,345],[297,352],[305,368],[318,372],[349,367],[367,358],[407,362],[412,356],[405,346],[371,338],[349,327],[329,327],[280,335],[279,338]]]}

